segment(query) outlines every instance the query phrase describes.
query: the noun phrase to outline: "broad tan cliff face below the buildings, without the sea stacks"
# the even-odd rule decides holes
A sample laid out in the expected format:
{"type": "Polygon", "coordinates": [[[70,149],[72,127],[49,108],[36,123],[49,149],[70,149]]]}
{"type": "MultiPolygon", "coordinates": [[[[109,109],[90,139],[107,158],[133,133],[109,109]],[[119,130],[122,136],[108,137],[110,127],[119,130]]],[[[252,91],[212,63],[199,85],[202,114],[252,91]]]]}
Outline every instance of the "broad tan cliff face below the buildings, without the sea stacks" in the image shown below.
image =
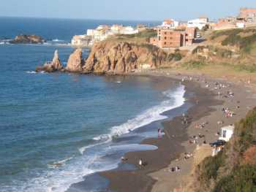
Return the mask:
{"type": "Polygon", "coordinates": [[[155,69],[166,58],[167,53],[153,45],[99,42],[92,47],[83,69],[92,73],[124,74],[140,69],[155,69]]]}

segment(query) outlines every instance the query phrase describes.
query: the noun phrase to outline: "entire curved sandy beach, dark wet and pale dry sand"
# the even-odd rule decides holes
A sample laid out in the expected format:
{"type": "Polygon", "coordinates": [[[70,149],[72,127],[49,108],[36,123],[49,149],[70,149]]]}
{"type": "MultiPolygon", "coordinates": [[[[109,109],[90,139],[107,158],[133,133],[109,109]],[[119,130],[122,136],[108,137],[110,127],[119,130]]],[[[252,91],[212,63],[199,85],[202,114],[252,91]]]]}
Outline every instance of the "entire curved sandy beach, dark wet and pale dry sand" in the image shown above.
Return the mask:
{"type": "Polygon", "coordinates": [[[182,123],[182,116],[165,120],[162,122],[164,137],[145,139],[142,142],[157,146],[157,150],[127,153],[127,163],[134,164],[138,169],[114,170],[100,174],[110,180],[111,191],[190,191],[185,187],[191,181],[193,169],[203,158],[211,155],[212,149],[208,143],[218,139],[219,128],[234,124],[243,118],[246,112],[254,107],[256,96],[252,88],[245,87],[243,83],[239,85],[202,75],[162,70],[139,75],[180,80],[187,91],[193,93],[186,96],[189,103],[193,104],[186,113],[187,123],[182,123]],[[235,115],[225,118],[222,108],[230,109],[235,115]],[[184,160],[185,153],[192,154],[192,157],[184,160]],[[146,162],[143,167],[138,166],[140,158],[146,162]],[[170,172],[175,166],[180,167],[181,171],[170,172]]]}

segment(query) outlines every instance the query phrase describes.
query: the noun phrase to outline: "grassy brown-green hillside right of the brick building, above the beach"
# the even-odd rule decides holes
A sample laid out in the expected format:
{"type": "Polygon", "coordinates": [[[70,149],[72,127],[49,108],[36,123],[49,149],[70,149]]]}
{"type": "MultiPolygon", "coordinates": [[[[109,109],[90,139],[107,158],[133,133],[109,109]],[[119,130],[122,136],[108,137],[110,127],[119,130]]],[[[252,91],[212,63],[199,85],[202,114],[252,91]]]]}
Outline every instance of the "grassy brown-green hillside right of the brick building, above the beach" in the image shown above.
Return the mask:
{"type": "Polygon", "coordinates": [[[185,69],[203,69],[211,65],[256,72],[256,29],[213,31],[182,64],[185,69]]]}

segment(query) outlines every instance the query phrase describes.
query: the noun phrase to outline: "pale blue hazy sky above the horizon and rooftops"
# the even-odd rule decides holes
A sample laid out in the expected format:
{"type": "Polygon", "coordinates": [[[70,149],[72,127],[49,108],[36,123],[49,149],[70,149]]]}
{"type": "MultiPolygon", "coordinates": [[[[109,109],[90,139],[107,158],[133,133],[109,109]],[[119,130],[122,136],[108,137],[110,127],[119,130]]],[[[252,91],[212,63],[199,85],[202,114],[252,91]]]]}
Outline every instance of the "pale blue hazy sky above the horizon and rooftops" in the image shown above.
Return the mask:
{"type": "Polygon", "coordinates": [[[256,0],[1,0],[0,16],[118,20],[211,19],[237,15],[256,0]]]}

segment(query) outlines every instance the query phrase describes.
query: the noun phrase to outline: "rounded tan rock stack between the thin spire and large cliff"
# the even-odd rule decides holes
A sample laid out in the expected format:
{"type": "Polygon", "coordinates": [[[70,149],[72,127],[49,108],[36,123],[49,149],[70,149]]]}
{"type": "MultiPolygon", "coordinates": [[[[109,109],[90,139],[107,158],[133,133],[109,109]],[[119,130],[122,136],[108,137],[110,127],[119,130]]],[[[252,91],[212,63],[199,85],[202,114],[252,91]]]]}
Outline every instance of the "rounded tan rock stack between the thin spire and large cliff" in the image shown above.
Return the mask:
{"type": "Polygon", "coordinates": [[[67,72],[83,72],[85,61],[83,60],[82,54],[82,49],[79,48],[69,56],[65,69],[67,72]]]}

